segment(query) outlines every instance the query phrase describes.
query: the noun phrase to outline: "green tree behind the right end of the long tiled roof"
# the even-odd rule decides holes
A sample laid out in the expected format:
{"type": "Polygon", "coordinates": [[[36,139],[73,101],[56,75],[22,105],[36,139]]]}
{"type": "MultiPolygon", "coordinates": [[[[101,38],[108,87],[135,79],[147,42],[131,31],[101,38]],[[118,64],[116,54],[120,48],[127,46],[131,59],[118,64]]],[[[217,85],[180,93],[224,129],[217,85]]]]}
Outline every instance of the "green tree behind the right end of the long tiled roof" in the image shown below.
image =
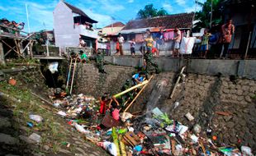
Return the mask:
{"type": "Polygon", "coordinates": [[[222,22],[222,7],[221,2],[223,0],[206,0],[206,2],[197,2],[197,5],[201,6],[201,11],[197,11],[195,15],[194,30],[200,30],[201,28],[207,28],[211,24],[219,24],[222,22]],[[212,1],[212,20],[211,20],[211,1],[212,1]]]}

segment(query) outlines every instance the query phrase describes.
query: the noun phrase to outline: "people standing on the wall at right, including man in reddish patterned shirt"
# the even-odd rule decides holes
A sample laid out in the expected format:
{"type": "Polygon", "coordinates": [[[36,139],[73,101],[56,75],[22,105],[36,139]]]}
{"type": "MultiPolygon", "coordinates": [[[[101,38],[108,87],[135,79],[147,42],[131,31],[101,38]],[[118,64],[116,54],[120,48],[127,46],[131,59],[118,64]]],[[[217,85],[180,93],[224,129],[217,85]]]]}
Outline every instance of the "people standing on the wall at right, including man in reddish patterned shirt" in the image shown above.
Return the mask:
{"type": "Polygon", "coordinates": [[[218,57],[222,52],[221,57],[228,57],[228,49],[232,39],[232,35],[235,33],[235,26],[232,24],[232,20],[229,19],[224,25],[221,25],[220,30],[211,28],[210,33],[208,30],[204,30],[204,34],[201,36],[201,57],[206,58],[206,54],[210,50],[210,45],[213,51],[215,51],[218,57]]]}

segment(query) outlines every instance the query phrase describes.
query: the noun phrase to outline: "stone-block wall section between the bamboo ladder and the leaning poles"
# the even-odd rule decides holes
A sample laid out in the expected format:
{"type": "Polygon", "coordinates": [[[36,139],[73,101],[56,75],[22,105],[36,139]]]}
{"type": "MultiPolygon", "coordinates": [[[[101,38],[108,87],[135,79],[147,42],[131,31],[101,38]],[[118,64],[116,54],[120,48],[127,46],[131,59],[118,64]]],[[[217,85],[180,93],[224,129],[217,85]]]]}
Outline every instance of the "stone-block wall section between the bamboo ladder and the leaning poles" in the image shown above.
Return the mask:
{"type": "Polygon", "coordinates": [[[131,78],[134,68],[107,65],[105,71],[107,74],[102,74],[92,64],[79,64],[76,92],[95,97],[102,96],[106,92],[119,93],[122,85],[131,78]]]}

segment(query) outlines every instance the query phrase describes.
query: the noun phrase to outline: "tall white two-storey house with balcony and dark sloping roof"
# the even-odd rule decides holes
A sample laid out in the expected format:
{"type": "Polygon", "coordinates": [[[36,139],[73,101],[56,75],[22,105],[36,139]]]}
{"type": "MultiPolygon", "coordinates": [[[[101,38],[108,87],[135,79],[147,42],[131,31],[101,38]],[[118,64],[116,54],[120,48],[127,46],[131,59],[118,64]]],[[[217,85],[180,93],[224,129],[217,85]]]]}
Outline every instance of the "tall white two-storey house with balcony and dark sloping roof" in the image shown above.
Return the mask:
{"type": "Polygon", "coordinates": [[[92,20],[78,7],[59,1],[54,10],[55,45],[62,50],[78,47],[82,38],[88,48],[96,48],[97,31],[92,29],[92,20]]]}

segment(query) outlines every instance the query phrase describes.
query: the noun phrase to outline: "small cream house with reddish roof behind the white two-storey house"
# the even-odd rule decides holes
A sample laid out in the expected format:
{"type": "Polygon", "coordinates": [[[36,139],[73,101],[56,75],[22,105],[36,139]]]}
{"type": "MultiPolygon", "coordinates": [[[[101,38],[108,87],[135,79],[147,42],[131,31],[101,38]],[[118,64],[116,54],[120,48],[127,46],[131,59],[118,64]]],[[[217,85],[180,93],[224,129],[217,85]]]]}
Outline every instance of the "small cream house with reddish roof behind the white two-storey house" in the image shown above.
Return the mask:
{"type": "Polygon", "coordinates": [[[118,21],[116,23],[112,23],[111,25],[107,25],[104,28],[102,28],[102,34],[107,35],[116,35],[118,34],[123,28],[125,27],[125,24],[118,21]]]}

